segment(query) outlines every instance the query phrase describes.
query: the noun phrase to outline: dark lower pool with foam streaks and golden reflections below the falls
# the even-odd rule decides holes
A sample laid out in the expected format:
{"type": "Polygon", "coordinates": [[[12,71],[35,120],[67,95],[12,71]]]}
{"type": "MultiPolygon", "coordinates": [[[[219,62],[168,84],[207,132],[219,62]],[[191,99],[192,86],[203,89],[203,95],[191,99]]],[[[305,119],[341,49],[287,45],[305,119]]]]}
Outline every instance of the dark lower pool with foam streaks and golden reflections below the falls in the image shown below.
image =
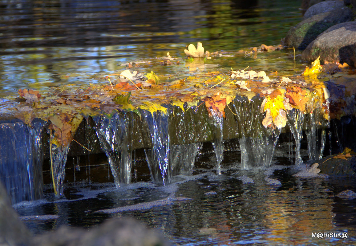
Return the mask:
{"type": "MultiPolygon", "coordinates": [[[[174,176],[165,186],[151,182],[143,151],[134,153],[133,183],[119,188],[105,156],[75,157],[67,163],[62,197],[54,196],[45,171],[44,199],[15,208],[34,234],[133,217],[176,245],[354,245],[355,203],[337,194],[353,189],[356,179],[291,176],[293,145],[293,137],[284,134],[270,168],[240,170],[238,141],[228,141],[222,174],[216,175],[215,152],[207,143],[193,175],[174,176]],[[348,238],[318,239],[315,232],[346,232],[348,238]]],[[[301,156],[307,162],[305,141],[301,156]]]]}

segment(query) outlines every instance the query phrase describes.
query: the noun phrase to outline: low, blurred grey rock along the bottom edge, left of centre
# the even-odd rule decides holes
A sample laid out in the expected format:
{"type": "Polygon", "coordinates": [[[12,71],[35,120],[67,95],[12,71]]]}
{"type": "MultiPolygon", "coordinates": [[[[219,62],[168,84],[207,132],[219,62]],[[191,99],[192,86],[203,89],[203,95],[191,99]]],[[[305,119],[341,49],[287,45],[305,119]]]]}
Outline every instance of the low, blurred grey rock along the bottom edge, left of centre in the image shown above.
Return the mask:
{"type": "Polygon", "coordinates": [[[164,246],[163,236],[133,219],[110,219],[85,230],[62,226],[55,232],[35,237],[30,246],[164,246]]]}

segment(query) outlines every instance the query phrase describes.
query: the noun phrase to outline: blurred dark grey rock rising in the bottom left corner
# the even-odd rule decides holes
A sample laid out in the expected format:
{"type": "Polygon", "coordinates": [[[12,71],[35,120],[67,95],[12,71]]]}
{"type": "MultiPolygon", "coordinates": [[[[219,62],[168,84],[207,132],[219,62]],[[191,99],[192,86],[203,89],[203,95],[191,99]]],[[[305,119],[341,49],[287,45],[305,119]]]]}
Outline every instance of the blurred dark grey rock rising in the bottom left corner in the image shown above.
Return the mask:
{"type": "Polygon", "coordinates": [[[0,184],[0,211],[0,245],[28,245],[31,233],[12,209],[2,184],[0,184]]]}

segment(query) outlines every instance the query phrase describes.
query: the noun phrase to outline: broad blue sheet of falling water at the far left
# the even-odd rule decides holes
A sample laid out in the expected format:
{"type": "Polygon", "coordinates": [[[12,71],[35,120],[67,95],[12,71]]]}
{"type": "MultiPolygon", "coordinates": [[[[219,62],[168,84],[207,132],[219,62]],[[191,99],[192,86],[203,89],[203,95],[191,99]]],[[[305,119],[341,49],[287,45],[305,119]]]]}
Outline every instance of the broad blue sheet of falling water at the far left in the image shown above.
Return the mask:
{"type": "Polygon", "coordinates": [[[34,121],[32,127],[22,122],[0,126],[0,181],[13,204],[42,198],[43,125],[34,121]]]}

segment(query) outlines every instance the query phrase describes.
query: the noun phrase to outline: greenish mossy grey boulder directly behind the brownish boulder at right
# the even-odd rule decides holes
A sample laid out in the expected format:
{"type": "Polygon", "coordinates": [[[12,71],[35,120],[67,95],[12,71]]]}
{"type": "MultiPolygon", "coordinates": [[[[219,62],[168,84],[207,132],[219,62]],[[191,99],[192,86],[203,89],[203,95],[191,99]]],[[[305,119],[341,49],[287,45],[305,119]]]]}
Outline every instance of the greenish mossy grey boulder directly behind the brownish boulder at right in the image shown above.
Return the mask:
{"type": "Polygon", "coordinates": [[[284,39],[284,44],[303,50],[329,27],[352,19],[353,13],[348,7],[314,15],[292,27],[284,39]]]}

